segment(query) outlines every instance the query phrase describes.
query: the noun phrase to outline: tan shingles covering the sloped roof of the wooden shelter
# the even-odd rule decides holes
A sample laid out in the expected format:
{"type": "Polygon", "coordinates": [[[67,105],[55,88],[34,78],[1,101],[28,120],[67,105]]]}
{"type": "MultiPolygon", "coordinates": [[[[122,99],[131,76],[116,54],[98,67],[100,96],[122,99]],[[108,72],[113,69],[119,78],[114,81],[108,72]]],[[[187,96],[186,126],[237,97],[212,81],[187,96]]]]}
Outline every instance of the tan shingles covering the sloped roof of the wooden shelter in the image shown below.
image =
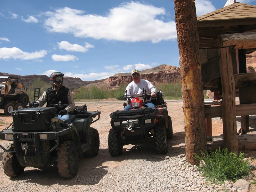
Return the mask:
{"type": "Polygon", "coordinates": [[[197,21],[256,18],[256,6],[234,3],[216,11],[197,17],[197,21]]]}

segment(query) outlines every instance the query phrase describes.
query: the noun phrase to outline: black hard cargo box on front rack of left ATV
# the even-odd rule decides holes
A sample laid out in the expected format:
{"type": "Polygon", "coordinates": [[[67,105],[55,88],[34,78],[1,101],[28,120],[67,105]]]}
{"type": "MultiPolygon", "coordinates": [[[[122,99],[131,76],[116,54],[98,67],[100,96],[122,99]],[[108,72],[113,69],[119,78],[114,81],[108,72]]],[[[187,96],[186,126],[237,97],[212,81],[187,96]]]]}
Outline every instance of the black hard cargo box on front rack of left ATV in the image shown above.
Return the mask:
{"type": "Polygon", "coordinates": [[[13,132],[47,131],[51,119],[56,116],[55,107],[24,108],[12,111],[13,132]]]}

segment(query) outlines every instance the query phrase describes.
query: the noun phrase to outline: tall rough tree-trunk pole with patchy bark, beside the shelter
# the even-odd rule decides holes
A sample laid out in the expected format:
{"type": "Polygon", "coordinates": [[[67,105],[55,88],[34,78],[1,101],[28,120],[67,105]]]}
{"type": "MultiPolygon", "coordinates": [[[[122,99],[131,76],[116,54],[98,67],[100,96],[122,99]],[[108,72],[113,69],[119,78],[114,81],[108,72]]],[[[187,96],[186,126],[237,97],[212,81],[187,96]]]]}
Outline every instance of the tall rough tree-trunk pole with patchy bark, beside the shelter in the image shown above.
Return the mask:
{"type": "Polygon", "coordinates": [[[199,36],[194,0],[174,0],[175,21],[180,53],[180,74],[185,115],[186,157],[198,163],[194,153],[206,151],[204,94],[200,66],[199,36]]]}

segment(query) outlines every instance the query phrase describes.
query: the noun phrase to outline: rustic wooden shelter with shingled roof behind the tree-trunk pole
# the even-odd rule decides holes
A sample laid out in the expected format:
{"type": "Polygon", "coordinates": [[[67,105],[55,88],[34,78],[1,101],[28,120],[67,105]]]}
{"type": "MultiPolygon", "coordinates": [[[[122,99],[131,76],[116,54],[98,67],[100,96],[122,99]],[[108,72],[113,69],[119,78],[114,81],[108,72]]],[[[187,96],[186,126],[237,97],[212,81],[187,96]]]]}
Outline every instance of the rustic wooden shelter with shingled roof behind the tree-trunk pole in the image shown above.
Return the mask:
{"type": "Polygon", "coordinates": [[[256,73],[246,67],[246,54],[256,50],[256,6],[231,4],[197,17],[197,26],[204,90],[221,99],[205,107],[205,118],[222,117],[224,147],[237,151],[236,116],[247,132],[256,114],[256,73]]]}

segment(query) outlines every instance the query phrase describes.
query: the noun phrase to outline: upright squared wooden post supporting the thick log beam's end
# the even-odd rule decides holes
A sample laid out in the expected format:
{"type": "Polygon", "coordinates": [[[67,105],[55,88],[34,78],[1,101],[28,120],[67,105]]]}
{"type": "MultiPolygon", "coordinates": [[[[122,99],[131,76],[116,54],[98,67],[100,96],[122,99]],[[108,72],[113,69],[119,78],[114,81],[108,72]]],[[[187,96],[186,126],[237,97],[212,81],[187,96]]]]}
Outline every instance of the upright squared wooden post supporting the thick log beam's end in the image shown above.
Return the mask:
{"type": "Polygon", "coordinates": [[[236,92],[230,48],[219,49],[222,87],[223,140],[229,152],[238,152],[236,132],[236,92]]]}

